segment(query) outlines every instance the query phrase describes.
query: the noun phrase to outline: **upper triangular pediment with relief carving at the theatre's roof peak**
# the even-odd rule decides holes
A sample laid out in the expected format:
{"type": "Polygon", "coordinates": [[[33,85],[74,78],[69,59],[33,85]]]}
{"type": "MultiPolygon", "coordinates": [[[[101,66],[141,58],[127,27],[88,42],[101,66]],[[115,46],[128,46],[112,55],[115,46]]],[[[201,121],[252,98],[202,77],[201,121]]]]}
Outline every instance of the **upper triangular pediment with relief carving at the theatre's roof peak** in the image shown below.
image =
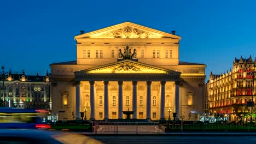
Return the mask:
{"type": "Polygon", "coordinates": [[[137,25],[132,22],[124,22],[118,25],[99,29],[97,31],[77,35],[79,38],[172,38],[180,39],[181,37],[170,33],[158,31],[156,29],[137,25]]]}

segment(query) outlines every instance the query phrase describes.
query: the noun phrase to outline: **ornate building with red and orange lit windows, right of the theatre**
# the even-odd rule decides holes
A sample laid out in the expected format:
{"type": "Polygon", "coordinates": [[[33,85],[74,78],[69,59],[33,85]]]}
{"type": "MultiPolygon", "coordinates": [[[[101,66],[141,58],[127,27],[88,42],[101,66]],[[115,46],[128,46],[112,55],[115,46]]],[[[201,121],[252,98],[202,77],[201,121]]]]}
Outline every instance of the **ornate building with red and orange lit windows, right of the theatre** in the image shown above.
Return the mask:
{"type": "Polygon", "coordinates": [[[229,114],[231,120],[236,121],[241,113],[251,111],[247,103],[255,103],[255,97],[252,100],[252,94],[255,93],[255,62],[251,56],[248,59],[235,58],[232,70],[220,75],[210,74],[207,83],[207,112],[229,114]]]}

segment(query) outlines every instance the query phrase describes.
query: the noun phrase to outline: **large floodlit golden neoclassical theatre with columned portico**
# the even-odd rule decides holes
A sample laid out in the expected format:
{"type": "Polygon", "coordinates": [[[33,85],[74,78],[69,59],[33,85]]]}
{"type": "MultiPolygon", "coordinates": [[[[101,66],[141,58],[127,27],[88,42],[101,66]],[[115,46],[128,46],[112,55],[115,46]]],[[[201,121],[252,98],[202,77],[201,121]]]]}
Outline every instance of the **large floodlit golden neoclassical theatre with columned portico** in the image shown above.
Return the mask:
{"type": "Polygon", "coordinates": [[[75,36],[77,60],[50,64],[53,112],[59,119],[197,119],[205,64],[179,61],[181,37],[124,22],[75,36]],[[173,118],[172,118],[173,119],[173,118]]]}

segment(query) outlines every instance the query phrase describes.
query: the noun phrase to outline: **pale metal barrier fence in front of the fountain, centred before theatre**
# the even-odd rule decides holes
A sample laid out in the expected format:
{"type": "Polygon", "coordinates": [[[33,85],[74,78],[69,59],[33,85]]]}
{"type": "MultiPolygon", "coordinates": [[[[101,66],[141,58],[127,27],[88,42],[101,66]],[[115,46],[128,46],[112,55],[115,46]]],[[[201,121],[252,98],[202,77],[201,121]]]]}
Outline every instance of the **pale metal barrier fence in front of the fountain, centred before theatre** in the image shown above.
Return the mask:
{"type": "Polygon", "coordinates": [[[161,134],[159,122],[93,122],[94,134],[161,134]]]}

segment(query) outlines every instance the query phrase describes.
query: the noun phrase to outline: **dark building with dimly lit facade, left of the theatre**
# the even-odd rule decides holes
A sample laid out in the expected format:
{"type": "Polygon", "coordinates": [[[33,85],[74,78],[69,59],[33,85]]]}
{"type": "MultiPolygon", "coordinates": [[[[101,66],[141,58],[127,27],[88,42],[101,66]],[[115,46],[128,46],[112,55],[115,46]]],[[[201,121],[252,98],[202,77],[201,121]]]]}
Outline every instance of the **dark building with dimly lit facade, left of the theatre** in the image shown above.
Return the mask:
{"type": "Polygon", "coordinates": [[[51,110],[51,83],[45,76],[25,75],[9,71],[0,82],[1,98],[5,106],[51,110]],[[4,84],[4,85],[3,85],[4,84]],[[3,89],[4,86],[4,89],[3,89]],[[3,97],[4,93],[4,97],[3,97]]]}

